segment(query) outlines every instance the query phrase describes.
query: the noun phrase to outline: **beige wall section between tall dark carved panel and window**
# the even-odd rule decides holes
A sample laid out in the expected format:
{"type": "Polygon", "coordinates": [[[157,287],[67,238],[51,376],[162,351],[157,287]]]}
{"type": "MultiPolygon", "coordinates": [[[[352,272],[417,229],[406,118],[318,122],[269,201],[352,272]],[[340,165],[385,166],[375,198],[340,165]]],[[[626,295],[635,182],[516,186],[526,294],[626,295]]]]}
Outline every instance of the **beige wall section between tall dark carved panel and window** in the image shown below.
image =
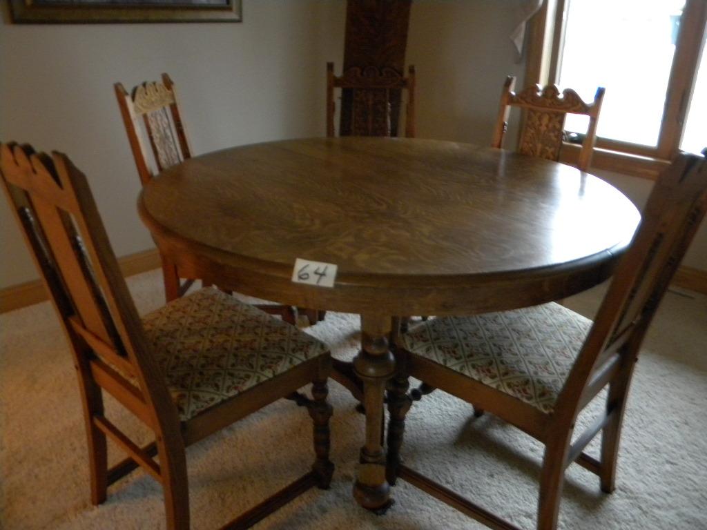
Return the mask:
{"type": "MultiPolygon", "coordinates": [[[[418,136],[489,145],[509,74],[525,61],[510,42],[524,0],[416,1],[407,59],[416,68],[418,136]]],[[[513,126],[513,121],[511,122],[513,126]]],[[[515,137],[513,127],[508,139],[515,137]]]]}

